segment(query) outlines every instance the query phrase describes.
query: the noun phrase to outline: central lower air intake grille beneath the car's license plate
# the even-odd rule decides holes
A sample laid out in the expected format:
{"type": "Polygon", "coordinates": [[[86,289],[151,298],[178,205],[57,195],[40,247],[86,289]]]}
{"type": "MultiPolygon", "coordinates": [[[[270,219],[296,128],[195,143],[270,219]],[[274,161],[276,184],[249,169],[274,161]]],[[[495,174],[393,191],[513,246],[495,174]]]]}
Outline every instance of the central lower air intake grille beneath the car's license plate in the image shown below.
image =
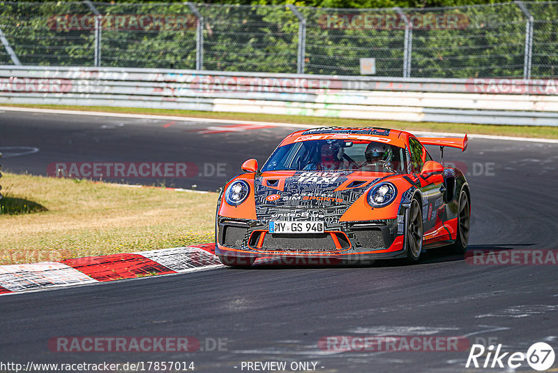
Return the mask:
{"type": "Polygon", "coordinates": [[[262,250],[269,251],[340,251],[349,249],[347,237],[342,233],[334,233],[341,249],[335,247],[330,233],[309,233],[301,235],[266,233],[262,250]]]}

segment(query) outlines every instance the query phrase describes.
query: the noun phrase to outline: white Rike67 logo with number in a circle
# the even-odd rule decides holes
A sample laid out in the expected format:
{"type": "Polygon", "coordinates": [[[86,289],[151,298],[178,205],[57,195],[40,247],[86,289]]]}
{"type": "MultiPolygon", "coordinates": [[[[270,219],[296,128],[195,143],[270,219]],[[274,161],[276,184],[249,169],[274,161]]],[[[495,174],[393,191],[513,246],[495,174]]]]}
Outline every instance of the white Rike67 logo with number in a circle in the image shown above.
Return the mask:
{"type": "Polygon", "coordinates": [[[501,349],[502,344],[498,344],[496,349],[494,345],[488,346],[488,349],[485,349],[485,346],[482,344],[473,344],[465,367],[511,368],[515,370],[527,360],[527,364],[532,369],[542,372],[543,370],[550,369],[555,361],[554,349],[545,342],[532,344],[527,353],[502,353],[501,349]]]}

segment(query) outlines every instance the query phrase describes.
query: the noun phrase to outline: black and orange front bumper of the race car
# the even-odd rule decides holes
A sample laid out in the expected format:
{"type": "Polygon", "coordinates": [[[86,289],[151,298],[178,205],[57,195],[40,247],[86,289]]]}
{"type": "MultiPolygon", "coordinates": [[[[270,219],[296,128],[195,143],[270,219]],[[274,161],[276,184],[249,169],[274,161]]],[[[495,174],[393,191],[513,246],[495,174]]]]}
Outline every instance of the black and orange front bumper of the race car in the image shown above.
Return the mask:
{"type": "Polygon", "coordinates": [[[402,219],[327,224],[321,234],[272,234],[267,221],[217,218],[216,254],[371,260],[405,256],[402,219]]]}

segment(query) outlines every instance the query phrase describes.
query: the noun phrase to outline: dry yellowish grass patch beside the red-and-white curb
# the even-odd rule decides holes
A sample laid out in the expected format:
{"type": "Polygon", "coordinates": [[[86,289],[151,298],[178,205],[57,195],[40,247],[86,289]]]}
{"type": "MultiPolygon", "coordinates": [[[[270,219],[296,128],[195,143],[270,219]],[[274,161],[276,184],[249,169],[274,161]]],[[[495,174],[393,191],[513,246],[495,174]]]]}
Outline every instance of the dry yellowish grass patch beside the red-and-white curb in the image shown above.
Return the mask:
{"type": "Polygon", "coordinates": [[[13,173],[1,185],[0,264],[213,242],[217,193],[13,173]],[[17,212],[13,203],[40,207],[17,212]]]}

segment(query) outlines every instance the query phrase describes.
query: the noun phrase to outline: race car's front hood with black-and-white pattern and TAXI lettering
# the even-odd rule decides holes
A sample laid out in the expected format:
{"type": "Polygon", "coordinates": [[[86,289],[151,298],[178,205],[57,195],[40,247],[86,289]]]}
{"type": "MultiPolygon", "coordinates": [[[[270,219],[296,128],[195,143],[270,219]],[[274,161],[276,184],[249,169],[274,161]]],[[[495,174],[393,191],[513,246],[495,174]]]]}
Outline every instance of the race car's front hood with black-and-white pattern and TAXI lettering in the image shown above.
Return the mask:
{"type": "Polygon", "coordinates": [[[372,184],[389,173],[273,171],[255,177],[257,216],[271,210],[335,209],[345,212],[372,184]]]}

